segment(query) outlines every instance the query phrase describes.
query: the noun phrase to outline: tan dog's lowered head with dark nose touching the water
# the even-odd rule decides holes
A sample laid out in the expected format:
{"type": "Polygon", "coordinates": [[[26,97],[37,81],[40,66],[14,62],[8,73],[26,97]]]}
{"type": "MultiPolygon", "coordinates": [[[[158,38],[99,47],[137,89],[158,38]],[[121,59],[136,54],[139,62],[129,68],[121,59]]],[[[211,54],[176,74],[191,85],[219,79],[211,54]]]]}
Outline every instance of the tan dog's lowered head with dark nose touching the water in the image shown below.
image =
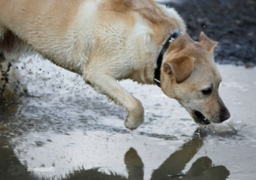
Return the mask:
{"type": "Polygon", "coordinates": [[[169,45],[161,66],[162,91],[203,125],[221,123],[230,117],[218,92],[221,76],[214,62],[217,45],[203,32],[199,42],[188,34],[180,35],[169,45]]]}

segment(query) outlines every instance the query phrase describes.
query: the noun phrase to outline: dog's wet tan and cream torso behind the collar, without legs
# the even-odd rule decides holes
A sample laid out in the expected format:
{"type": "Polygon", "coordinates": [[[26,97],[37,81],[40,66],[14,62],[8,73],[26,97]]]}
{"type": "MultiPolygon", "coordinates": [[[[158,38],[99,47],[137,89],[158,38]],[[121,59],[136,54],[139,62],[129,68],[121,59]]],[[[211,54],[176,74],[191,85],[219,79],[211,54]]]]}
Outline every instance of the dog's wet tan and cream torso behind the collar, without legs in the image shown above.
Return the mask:
{"type": "Polygon", "coordinates": [[[145,54],[135,46],[143,42],[155,51],[173,28],[185,31],[174,10],[153,1],[0,0],[0,7],[2,53],[8,56],[11,49],[20,54],[20,50],[33,48],[53,63],[79,74],[81,67],[96,56],[119,58],[110,57],[114,51],[125,53],[124,57],[130,57],[132,51],[130,59],[145,55],[145,59],[149,58],[152,53],[145,54]],[[140,32],[148,35],[144,37],[140,32]],[[26,43],[17,47],[20,40],[26,43]]]}

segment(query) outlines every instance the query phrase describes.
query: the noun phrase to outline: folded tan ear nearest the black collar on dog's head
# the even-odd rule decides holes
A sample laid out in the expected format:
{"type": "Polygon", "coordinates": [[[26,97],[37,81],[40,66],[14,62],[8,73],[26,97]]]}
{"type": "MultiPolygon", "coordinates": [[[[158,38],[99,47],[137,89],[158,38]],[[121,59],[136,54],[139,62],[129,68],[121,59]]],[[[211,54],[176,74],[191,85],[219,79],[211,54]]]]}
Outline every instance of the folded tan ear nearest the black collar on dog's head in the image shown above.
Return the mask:
{"type": "Polygon", "coordinates": [[[164,72],[167,74],[173,74],[176,82],[181,83],[188,79],[191,73],[194,71],[194,62],[194,57],[181,55],[164,63],[164,72]]]}

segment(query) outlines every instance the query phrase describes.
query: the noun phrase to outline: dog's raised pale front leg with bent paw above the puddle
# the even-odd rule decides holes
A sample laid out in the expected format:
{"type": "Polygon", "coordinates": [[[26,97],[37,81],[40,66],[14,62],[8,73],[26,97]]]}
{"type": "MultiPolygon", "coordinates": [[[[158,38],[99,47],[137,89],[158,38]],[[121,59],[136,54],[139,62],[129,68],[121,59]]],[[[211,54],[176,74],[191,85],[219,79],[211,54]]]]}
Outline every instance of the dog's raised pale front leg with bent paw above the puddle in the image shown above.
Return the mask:
{"type": "Polygon", "coordinates": [[[123,106],[128,116],[125,127],[136,129],[144,121],[142,103],[129,94],[112,76],[107,74],[85,75],[85,82],[89,83],[101,94],[107,95],[111,100],[123,106]]]}

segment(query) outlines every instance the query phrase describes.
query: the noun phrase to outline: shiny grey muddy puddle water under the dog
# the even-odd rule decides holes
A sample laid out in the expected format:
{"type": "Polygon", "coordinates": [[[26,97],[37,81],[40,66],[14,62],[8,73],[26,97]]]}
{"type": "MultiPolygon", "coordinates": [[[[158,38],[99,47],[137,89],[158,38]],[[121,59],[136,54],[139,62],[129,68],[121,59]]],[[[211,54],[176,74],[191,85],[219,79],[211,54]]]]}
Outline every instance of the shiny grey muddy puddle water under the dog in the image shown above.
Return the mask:
{"type": "Polygon", "coordinates": [[[124,109],[81,77],[24,59],[29,93],[1,106],[0,179],[255,179],[256,69],[218,67],[229,121],[199,127],[158,87],[126,80],[145,108],[130,131],[124,109]]]}

